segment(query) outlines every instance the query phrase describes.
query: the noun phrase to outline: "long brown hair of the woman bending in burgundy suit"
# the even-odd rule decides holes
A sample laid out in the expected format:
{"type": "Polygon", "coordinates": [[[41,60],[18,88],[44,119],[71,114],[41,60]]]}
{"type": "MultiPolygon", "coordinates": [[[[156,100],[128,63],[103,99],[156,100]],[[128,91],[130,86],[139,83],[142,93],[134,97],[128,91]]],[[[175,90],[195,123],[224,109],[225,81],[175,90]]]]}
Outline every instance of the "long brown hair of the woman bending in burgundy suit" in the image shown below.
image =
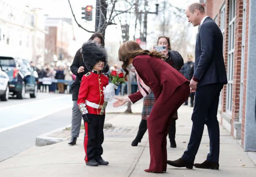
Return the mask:
{"type": "Polygon", "coordinates": [[[148,50],[141,49],[139,44],[135,41],[126,41],[120,46],[118,50],[119,61],[123,62],[122,68],[125,71],[125,78],[127,78],[127,75],[129,74],[129,71],[127,70],[129,59],[135,58],[138,55],[149,55],[151,57],[166,60],[164,55],[160,52],[155,50],[149,52],[148,50]]]}

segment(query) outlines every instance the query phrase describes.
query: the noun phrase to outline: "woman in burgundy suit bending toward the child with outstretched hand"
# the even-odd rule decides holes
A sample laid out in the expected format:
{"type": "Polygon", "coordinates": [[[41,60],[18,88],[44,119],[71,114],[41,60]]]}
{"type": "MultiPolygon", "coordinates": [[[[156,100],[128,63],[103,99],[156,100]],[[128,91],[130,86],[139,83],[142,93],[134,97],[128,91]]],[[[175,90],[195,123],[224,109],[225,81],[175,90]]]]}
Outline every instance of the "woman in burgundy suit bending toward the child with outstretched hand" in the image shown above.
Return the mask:
{"type": "Polygon", "coordinates": [[[189,81],[179,71],[163,61],[165,57],[162,54],[143,50],[135,41],[124,42],[119,48],[118,55],[119,60],[123,62],[125,77],[129,73],[128,65],[133,64],[135,67],[139,91],[127,97],[116,97],[117,101],[113,106],[119,107],[128,101],[135,103],[149,94],[151,90],[154,92],[155,104],[147,118],[150,164],[149,169],[144,171],[165,172],[168,128],[177,109],[189,97],[189,81]]]}

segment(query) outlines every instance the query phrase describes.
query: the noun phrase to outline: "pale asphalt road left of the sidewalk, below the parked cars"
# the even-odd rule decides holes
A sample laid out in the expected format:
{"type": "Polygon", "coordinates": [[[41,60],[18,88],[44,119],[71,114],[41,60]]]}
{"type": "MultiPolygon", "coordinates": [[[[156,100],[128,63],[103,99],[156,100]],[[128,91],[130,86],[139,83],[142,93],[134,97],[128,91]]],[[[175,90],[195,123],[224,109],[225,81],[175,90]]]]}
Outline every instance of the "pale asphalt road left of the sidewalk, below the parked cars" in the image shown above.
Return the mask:
{"type": "Polygon", "coordinates": [[[35,146],[38,135],[71,124],[72,95],[39,93],[0,102],[0,161],[35,146]]]}

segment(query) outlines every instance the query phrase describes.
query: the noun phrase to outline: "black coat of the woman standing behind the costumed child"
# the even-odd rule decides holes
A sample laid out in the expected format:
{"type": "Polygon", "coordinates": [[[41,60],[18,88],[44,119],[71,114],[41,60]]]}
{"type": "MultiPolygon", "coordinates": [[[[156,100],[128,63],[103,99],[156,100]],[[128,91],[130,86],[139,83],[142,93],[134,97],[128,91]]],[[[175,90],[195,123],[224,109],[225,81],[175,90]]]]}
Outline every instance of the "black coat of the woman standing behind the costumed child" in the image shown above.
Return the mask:
{"type": "MultiPolygon", "coordinates": [[[[82,55],[80,53],[80,49],[77,50],[77,52],[75,54],[75,57],[74,57],[74,60],[73,60],[73,63],[70,66],[70,69],[71,69],[71,72],[77,76],[74,83],[71,86],[72,100],[75,101],[75,100],[78,99],[78,93],[79,93],[81,79],[82,79],[84,74],[89,72],[85,67],[85,63],[83,62],[82,55]],[[78,71],[78,68],[80,66],[83,66],[85,68],[85,71],[78,74],[77,71],[78,71]]],[[[103,71],[103,73],[107,73],[108,70],[109,70],[109,66],[106,64],[102,71],[103,71]]]]}

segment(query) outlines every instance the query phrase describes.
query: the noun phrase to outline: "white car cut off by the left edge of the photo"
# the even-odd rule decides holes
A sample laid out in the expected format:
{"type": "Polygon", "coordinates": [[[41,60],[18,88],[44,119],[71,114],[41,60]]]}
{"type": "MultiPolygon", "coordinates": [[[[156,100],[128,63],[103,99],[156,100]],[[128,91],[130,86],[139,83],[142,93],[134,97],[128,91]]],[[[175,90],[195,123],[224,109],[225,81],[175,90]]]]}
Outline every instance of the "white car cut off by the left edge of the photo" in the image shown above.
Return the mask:
{"type": "Polygon", "coordinates": [[[0,100],[7,101],[9,98],[9,77],[0,65],[0,100]]]}

